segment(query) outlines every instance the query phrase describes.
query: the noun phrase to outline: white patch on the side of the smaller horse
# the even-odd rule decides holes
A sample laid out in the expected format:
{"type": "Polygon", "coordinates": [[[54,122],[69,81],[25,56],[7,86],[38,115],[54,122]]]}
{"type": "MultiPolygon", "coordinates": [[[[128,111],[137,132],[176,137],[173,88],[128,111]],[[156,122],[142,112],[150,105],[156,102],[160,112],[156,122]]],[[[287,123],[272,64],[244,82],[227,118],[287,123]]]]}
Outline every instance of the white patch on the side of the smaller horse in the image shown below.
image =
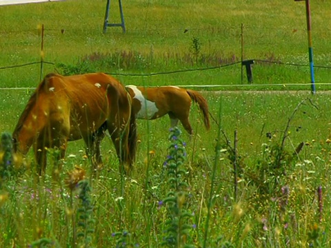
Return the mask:
{"type": "Polygon", "coordinates": [[[150,119],[159,111],[157,105],[154,102],[148,101],[145,97],[143,97],[143,94],[140,90],[138,90],[136,85],[126,85],[126,87],[129,87],[131,90],[133,90],[134,99],[139,100],[141,103],[141,109],[137,113],[137,118],[150,119]]]}

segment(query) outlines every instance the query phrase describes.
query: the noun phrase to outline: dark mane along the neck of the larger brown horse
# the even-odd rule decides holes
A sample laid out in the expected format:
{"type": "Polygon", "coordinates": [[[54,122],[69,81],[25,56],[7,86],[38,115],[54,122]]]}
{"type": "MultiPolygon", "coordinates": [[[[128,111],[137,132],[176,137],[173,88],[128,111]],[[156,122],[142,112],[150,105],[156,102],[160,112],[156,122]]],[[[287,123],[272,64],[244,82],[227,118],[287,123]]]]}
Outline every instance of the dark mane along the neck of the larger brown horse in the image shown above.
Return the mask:
{"type": "Polygon", "coordinates": [[[17,122],[17,126],[15,127],[14,133],[17,133],[21,130],[21,128],[23,127],[23,123],[26,121],[26,119],[28,118],[28,116],[32,110],[32,107],[34,107],[35,103],[37,102],[38,96],[41,93],[41,91],[43,90],[44,85],[46,85],[48,79],[50,79],[50,77],[52,77],[54,75],[56,75],[56,74],[54,74],[54,73],[47,74],[45,76],[45,78],[43,79],[43,81],[41,81],[41,83],[39,83],[37,89],[34,90],[32,95],[30,96],[28,103],[26,104],[26,107],[24,108],[21,116],[19,117],[19,121],[17,122]]]}

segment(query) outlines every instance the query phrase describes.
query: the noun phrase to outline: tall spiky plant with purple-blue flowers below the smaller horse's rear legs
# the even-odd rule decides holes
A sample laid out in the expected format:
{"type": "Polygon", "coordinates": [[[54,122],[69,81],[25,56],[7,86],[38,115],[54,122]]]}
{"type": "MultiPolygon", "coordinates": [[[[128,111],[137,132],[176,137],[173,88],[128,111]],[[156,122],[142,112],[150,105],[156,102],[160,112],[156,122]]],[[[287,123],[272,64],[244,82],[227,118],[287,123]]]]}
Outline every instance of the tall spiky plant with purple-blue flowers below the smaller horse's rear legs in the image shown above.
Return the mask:
{"type": "Polygon", "coordinates": [[[189,245],[190,230],[189,225],[192,214],[188,211],[187,199],[188,183],[184,181],[186,171],[182,169],[185,162],[185,143],[179,138],[181,131],[178,127],[170,129],[168,147],[169,155],[164,163],[168,176],[170,191],[163,199],[162,204],[167,208],[168,220],[165,223],[165,238],[162,245],[168,247],[193,247],[189,245]]]}

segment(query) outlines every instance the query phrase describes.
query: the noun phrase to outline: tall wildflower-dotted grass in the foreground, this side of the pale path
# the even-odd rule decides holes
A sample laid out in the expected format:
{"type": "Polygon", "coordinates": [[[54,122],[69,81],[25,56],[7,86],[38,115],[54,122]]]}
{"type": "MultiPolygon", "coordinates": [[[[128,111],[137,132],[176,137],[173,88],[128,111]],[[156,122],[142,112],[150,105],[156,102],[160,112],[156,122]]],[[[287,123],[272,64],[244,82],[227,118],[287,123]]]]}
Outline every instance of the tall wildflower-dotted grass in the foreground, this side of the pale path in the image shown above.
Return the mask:
{"type": "MultiPolygon", "coordinates": [[[[328,94],[204,95],[219,125],[213,121],[212,130],[205,132],[194,105],[190,116],[195,122],[194,136],[180,136],[188,157],[180,165],[184,173],[179,180],[188,183],[183,206],[192,213],[186,240],[195,247],[328,247],[328,94]],[[308,96],[312,103],[303,101],[308,96]],[[221,117],[217,117],[218,113],[221,117]],[[217,138],[220,127],[224,133],[217,138]],[[235,154],[231,152],[234,130],[235,154]],[[284,136],[285,145],[279,149],[284,136]],[[299,150],[301,142],[304,145],[299,150]],[[233,177],[233,156],[237,159],[237,178],[233,177]]],[[[14,121],[8,120],[9,130],[14,121]]],[[[102,144],[105,165],[97,178],[91,177],[90,163],[80,152],[82,142],[69,143],[59,180],[52,177],[50,164],[45,178],[36,183],[30,157],[25,172],[6,181],[1,189],[1,246],[80,247],[79,230],[86,227],[83,223],[79,227],[83,198],[78,182],[68,180],[67,175],[80,168],[78,172],[86,171],[90,187],[87,203],[92,206],[92,221],[86,222],[90,225],[86,233],[90,238],[81,244],[161,247],[171,216],[171,208],[161,203],[173,187],[167,181],[164,162],[168,147],[179,141],[167,141],[168,127],[166,117],[138,122],[137,162],[132,174],[123,178],[123,185],[108,139],[102,144]],[[64,182],[73,182],[74,187],[64,182]]]]}

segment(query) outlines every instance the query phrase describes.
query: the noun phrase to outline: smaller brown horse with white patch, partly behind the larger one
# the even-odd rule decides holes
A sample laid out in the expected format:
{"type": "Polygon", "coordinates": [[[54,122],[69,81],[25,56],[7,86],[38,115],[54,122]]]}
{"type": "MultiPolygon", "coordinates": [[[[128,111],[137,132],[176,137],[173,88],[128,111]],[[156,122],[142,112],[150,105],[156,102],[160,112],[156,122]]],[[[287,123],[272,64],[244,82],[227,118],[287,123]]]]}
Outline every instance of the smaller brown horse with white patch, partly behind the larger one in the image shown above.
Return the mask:
{"type": "Polygon", "coordinates": [[[210,129],[208,103],[203,96],[194,90],[186,90],[177,86],[139,87],[126,85],[132,97],[132,107],[137,118],[153,120],[165,114],[170,117],[170,125],[174,127],[181,121],[185,130],[192,134],[188,116],[192,101],[198,103],[203,114],[203,123],[210,129]]]}

